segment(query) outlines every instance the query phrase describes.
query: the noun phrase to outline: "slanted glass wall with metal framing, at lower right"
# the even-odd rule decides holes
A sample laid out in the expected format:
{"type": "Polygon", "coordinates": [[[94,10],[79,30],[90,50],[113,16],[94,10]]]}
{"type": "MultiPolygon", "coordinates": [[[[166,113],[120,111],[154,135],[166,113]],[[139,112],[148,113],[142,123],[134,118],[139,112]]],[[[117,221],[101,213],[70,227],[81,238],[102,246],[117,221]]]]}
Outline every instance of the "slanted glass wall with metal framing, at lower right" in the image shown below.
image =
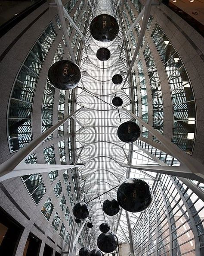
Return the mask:
{"type": "MultiPolygon", "coordinates": [[[[177,181],[179,179],[176,178],[177,181]]],[[[192,225],[191,220],[189,219],[188,211],[186,209],[186,205],[184,204],[181,196],[179,195],[178,189],[176,189],[175,184],[173,184],[172,178],[167,175],[162,175],[160,178],[160,184],[158,182],[155,182],[155,188],[154,188],[154,202],[155,202],[155,208],[156,208],[156,220],[158,224],[158,242],[157,242],[157,248],[158,248],[158,255],[163,255],[163,253],[168,253],[170,250],[170,236],[169,236],[169,230],[168,226],[170,224],[171,227],[171,240],[173,244],[173,255],[183,255],[185,253],[192,253],[189,255],[195,255],[195,242],[194,242],[194,234],[192,233],[192,225]],[[165,203],[164,203],[165,202],[165,203]],[[168,212],[168,213],[167,213],[168,212]],[[167,218],[167,214],[169,217],[167,218]],[[169,219],[169,221],[168,221],[169,219]]],[[[179,182],[180,183],[180,182],[179,182]]],[[[180,183],[180,189],[182,188],[183,195],[186,194],[186,186],[183,186],[180,183]]],[[[190,193],[190,196],[193,195],[194,200],[189,201],[190,207],[192,207],[192,213],[196,214],[197,212],[203,211],[204,204],[197,196],[195,196],[194,193],[190,193]],[[200,200],[200,202],[198,202],[200,200]],[[195,202],[198,202],[198,208],[196,209],[195,213],[195,202]]],[[[186,195],[186,200],[189,200],[189,194],[186,195]]],[[[149,213],[152,211],[152,208],[148,208],[149,213]]],[[[140,216],[138,223],[136,223],[135,229],[133,229],[134,234],[134,240],[137,242],[136,247],[138,250],[138,253],[142,250],[141,248],[141,241],[146,241],[146,234],[147,232],[144,230],[145,223],[143,221],[146,220],[148,217],[148,213],[144,213],[145,218],[142,218],[140,216]],[[141,225],[142,227],[139,227],[141,225]],[[143,229],[142,229],[143,228],[143,229]],[[142,232],[141,232],[142,230],[142,232]],[[135,234],[136,233],[136,234],[135,234]],[[140,242],[138,242],[138,239],[140,239],[140,242]],[[140,250],[141,249],[141,250],[140,250]]],[[[201,213],[201,216],[203,214],[201,213]]],[[[197,215],[198,218],[198,215],[197,215]]],[[[150,234],[151,230],[151,221],[155,218],[149,218],[149,223],[147,227],[149,228],[148,233],[150,234]]],[[[200,221],[198,221],[198,234],[201,235],[201,246],[203,246],[202,243],[202,235],[203,232],[203,226],[201,228],[200,222],[203,221],[200,218],[200,221]]],[[[156,239],[156,236],[154,236],[156,239]]],[[[151,241],[148,239],[148,241],[151,241]]],[[[148,245],[148,253],[153,253],[156,248],[156,243],[149,243],[148,245]]],[[[143,251],[145,255],[145,250],[143,251]]],[[[143,255],[143,253],[141,255],[143,255]]]]}

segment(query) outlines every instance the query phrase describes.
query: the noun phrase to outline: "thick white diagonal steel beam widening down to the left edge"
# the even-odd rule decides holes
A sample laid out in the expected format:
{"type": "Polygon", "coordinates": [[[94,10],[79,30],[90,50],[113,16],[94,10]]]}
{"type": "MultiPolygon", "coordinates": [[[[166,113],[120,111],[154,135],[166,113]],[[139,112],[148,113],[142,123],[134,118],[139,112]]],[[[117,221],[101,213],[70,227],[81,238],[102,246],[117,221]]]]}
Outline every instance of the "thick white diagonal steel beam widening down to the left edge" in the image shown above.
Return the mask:
{"type": "Polygon", "coordinates": [[[22,147],[19,151],[12,155],[12,157],[0,164],[0,177],[12,172],[20,163],[24,163],[24,160],[31,155],[50,134],[56,131],[60,125],[63,125],[69,118],[71,118],[72,115],[76,114],[81,109],[83,109],[83,107],[72,112],[70,115],[66,116],[61,121],[50,127],[48,130],[44,131],[42,134],[25,145],[25,147],[22,147]]]}

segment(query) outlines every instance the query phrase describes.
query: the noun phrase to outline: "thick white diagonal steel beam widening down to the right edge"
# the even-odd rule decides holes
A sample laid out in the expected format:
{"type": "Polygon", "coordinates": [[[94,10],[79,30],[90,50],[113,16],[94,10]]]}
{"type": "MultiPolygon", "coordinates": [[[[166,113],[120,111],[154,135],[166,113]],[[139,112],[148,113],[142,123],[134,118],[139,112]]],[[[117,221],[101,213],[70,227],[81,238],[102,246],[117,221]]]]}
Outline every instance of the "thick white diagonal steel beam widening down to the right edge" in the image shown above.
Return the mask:
{"type": "MultiPolygon", "coordinates": [[[[134,115],[129,110],[123,109],[128,112],[133,118],[135,118],[141,125],[143,125],[152,135],[154,135],[158,140],[163,144],[163,146],[167,149],[172,156],[176,157],[182,165],[182,169],[185,169],[185,173],[192,173],[197,176],[197,179],[201,177],[204,179],[204,165],[202,165],[198,160],[195,158],[190,157],[184,151],[182,151],[179,147],[173,144],[168,138],[164,137],[161,133],[156,131],[152,126],[145,123],[141,118],[134,115]]],[[[182,172],[180,173],[182,174],[182,172]]],[[[176,175],[175,173],[172,175],[176,175]]]]}

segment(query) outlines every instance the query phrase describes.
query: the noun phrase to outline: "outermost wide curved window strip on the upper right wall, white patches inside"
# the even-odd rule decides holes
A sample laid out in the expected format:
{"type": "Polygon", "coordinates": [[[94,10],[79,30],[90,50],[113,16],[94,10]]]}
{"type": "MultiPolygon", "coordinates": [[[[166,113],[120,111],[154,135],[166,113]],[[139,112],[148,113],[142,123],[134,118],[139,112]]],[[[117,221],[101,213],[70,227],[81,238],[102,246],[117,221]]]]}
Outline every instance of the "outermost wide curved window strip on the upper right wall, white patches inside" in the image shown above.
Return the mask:
{"type": "Polygon", "coordinates": [[[173,104],[173,143],[191,154],[195,141],[196,109],[191,82],[179,54],[155,24],[151,34],[166,70],[173,104]]]}

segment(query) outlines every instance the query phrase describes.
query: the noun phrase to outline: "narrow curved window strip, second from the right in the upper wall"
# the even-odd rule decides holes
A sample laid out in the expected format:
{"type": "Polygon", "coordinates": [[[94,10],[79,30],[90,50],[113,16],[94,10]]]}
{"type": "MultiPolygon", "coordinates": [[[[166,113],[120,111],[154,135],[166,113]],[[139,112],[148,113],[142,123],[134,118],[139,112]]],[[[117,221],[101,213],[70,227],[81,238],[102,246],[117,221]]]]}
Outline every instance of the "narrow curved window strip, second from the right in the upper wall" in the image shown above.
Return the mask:
{"type": "MultiPolygon", "coordinates": [[[[154,58],[151,55],[150,48],[148,44],[145,47],[145,51],[143,52],[148,76],[149,83],[151,86],[151,96],[152,96],[152,105],[153,105],[153,128],[163,134],[164,127],[164,112],[163,112],[163,97],[161,92],[161,84],[157,72],[157,68],[155,65],[154,58]]],[[[158,141],[155,136],[153,136],[153,140],[158,141]]]]}

